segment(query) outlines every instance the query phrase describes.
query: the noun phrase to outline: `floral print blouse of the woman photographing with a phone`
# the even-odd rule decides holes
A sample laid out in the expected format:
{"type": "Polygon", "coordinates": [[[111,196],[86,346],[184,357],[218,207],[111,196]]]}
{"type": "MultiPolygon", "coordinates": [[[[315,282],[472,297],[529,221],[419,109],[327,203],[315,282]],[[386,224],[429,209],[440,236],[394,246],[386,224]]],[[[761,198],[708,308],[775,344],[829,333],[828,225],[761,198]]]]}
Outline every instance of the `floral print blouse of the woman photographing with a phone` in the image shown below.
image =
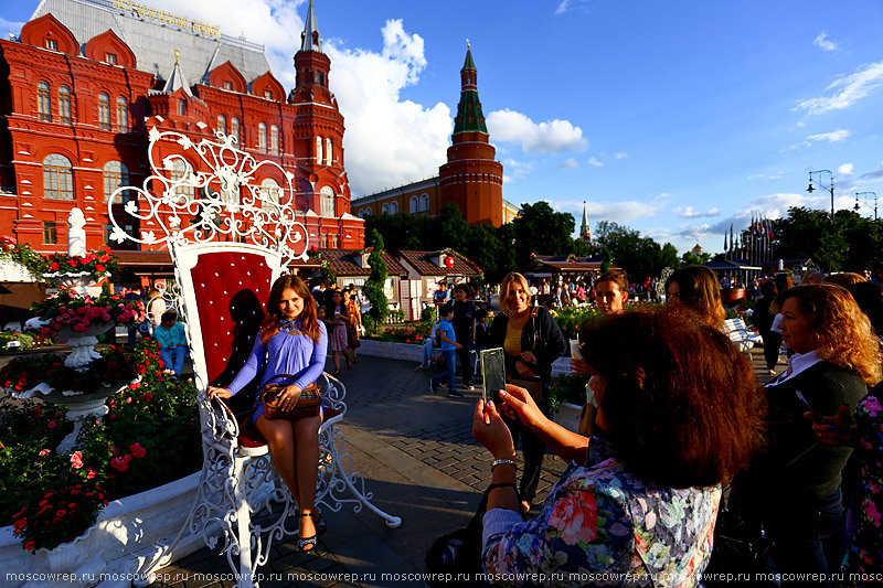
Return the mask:
{"type": "Polygon", "coordinates": [[[522,521],[493,509],[483,521],[485,569],[508,586],[698,586],[711,557],[720,487],[660,489],[629,473],[609,445],[589,442],[542,512],[522,521]]]}

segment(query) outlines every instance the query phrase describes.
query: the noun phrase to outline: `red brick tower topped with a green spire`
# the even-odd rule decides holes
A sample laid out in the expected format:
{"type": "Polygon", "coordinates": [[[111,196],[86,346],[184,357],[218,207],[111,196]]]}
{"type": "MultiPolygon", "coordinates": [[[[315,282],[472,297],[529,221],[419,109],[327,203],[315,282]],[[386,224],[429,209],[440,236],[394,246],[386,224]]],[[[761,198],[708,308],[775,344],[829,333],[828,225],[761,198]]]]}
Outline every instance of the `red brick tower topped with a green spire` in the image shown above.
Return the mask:
{"type": "Polygon", "coordinates": [[[448,162],[438,169],[442,202],[454,202],[469,224],[503,221],[503,167],[494,160],[497,150],[489,142],[481,100],[478,98],[478,71],[467,46],[460,70],[460,103],[454,121],[448,162]]]}

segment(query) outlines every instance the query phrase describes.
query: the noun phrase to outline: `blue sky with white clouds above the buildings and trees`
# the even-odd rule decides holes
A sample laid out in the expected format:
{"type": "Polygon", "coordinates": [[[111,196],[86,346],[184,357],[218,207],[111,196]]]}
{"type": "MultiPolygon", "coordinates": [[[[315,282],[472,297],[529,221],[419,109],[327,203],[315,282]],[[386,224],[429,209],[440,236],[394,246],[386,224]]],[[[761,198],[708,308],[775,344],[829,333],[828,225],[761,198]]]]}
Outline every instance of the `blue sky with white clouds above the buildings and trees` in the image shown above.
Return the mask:
{"type": "MultiPolygon", "coordinates": [[[[146,3],[265,43],[292,85],[306,1],[146,3]]],[[[586,201],[593,229],[614,221],[714,253],[752,212],[829,210],[828,192],[806,192],[810,169],[834,172],[839,209],[855,192],[883,199],[877,0],[315,6],[354,195],[437,173],[468,39],[515,204],[545,200],[578,224],[586,201]]],[[[3,0],[0,26],[35,7],[3,0]]]]}

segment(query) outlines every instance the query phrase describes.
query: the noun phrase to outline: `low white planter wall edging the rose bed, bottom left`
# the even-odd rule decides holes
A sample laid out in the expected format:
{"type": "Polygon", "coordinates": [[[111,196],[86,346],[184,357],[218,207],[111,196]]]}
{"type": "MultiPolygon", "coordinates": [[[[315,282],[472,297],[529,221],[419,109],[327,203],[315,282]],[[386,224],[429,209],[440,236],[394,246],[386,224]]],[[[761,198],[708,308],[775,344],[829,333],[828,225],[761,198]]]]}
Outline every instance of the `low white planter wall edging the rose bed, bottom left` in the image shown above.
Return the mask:
{"type": "MultiPolygon", "coordinates": [[[[116,500],[99,513],[83,535],[47,552],[32,555],[21,547],[12,526],[0,527],[0,585],[10,588],[104,588],[131,586],[141,566],[170,545],[187,520],[200,472],[166,485],[116,500]],[[36,574],[70,574],[49,580],[36,574]],[[29,578],[28,574],[32,576],[29,578]],[[102,577],[100,575],[104,575],[102,577]],[[99,580],[100,584],[99,584],[99,580]]],[[[202,536],[179,542],[170,562],[203,547],[202,536]]]]}

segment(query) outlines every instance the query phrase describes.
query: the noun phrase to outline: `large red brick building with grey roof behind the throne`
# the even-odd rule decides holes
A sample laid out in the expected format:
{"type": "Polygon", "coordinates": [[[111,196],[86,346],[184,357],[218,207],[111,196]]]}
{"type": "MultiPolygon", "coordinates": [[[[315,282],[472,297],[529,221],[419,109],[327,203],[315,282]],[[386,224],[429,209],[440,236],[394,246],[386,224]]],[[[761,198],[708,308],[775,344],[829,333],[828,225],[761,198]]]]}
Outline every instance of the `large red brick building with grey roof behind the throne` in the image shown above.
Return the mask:
{"type": "MultiPolygon", "coordinates": [[[[150,174],[147,137],[157,127],[193,142],[219,131],[238,137],[242,149],[294,174],[311,245],[363,247],[312,3],[295,67],[286,97],[264,47],[217,26],[124,0],[44,0],[20,39],[0,40],[0,234],[41,253],[65,250],[67,214],[78,206],[87,248],[117,248],[107,199],[150,174]]],[[[199,161],[187,167],[200,171],[199,161]]],[[[258,180],[285,185],[272,174],[258,180]]],[[[123,256],[134,267],[160,258],[123,256]]]]}

